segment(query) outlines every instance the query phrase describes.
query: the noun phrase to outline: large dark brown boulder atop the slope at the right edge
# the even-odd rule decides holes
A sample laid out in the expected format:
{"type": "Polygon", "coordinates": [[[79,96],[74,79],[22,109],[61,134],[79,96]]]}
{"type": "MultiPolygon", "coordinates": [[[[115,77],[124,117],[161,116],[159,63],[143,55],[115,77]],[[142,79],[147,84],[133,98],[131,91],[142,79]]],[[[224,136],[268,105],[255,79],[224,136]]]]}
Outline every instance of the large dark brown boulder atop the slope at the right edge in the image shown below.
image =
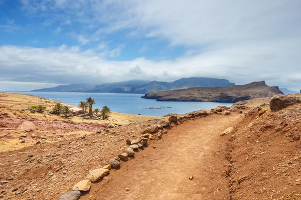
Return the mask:
{"type": "Polygon", "coordinates": [[[272,111],[278,111],[296,103],[301,103],[301,99],[299,97],[293,95],[278,94],[271,98],[270,109],[272,111]]]}

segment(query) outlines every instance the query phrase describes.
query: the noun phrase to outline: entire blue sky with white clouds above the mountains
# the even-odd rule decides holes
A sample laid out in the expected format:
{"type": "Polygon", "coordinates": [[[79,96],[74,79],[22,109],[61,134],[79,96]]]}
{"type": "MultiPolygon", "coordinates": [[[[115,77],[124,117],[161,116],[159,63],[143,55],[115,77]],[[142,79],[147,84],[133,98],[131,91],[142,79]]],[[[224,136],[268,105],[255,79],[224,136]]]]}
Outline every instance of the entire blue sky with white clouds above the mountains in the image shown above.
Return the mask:
{"type": "Polygon", "coordinates": [[[0,90],[181,77],[301,88],[301,0],[0,0],[0,90]]]}

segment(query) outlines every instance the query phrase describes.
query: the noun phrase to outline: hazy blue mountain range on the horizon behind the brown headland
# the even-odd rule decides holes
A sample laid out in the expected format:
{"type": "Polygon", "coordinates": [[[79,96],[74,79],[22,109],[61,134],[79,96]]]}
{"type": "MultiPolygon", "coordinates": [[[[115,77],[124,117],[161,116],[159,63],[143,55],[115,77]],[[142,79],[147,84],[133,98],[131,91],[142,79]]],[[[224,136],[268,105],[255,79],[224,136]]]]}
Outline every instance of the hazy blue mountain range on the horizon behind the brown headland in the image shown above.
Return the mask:
{"type": "Polygon", "coordinates": [[[101,93],[140,93],[145,94],[154,91],[173,89],[185,89],[190,87],[225,87],[235,85],[227,79],[189,77],[180,78],[173,82],[128,80],[122,82],[103,83],[98,85],[69,84],[51,88],[35,89],[32,91],[61,91],[61,92],[101,92],[101,93]]]}

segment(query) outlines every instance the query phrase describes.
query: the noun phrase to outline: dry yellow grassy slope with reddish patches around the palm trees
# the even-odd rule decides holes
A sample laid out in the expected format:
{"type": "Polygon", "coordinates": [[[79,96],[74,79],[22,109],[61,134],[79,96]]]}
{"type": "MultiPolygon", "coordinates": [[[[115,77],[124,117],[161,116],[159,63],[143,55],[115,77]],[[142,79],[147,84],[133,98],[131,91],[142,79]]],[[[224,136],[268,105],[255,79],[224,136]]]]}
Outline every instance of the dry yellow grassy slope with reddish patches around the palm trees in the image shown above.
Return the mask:
{"type": "Polygon", "coordinates": [[[50,114],[56,103],[70,107],[74,106],[40,96],[0,93],[0,111],[2,112],[0,118],[0,151],[31,146],[39,141],[48,143],[88,135],[101,131],[108,123],[118,126],[134,121],[158,118],[119,112],[112,112],[109,119],[106,120],[95,120],[88,116],[65,118],[50,114]],[[44,113],[30,113],[27,110],[29,106],[39,104],[46,106],[44,113]]]}

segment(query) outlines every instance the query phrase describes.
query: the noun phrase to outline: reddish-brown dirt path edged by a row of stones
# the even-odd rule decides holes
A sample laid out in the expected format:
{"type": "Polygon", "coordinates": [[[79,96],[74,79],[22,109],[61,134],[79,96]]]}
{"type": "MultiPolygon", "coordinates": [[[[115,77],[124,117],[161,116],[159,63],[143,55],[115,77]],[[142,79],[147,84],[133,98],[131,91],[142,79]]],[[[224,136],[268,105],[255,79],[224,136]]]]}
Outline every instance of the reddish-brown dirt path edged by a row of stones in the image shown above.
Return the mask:
{"type": "Polygon", "coordinates": [[[93,183],[81,199],[229,199],[220,133],[241,119],[232,113],[189,120],[93,183]]]}

